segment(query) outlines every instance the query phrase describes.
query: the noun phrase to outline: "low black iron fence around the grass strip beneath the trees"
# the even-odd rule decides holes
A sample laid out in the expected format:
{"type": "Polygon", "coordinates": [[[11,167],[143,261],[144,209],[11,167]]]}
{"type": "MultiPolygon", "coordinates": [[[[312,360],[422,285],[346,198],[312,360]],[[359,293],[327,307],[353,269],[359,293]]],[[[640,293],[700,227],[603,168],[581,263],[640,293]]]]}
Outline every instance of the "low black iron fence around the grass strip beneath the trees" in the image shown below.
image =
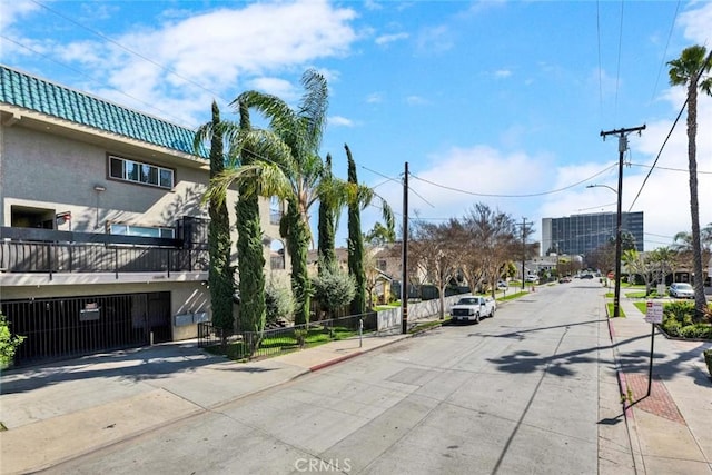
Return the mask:
{"type": "MultiPolygon", "coordinates": [[[[364,333],[375,331],[378,328],[377,318],[376,313],[368,313],[264,331],[230,334],[227,336],[230,342],[229,355],[237,359],[260,358],[354,337],[358,335],[362,321],[364,333]]],[[[198,324],[198,346],[205,348],[220,345],[220,329],[210,321],[198,324]]]]}

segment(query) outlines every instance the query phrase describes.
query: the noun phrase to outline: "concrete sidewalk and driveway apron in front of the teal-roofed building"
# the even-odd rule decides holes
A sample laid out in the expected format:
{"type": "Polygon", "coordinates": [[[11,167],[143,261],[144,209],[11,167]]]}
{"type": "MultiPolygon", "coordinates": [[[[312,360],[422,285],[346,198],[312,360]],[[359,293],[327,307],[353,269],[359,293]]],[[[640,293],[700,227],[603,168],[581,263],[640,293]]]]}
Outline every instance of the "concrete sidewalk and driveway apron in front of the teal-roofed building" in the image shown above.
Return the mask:
{"type": "Polygon", "coordinates": [[[0,473],[50,467],[409,336],[364,336],[247,364],[174,343],[6,372],[0,473]]]}

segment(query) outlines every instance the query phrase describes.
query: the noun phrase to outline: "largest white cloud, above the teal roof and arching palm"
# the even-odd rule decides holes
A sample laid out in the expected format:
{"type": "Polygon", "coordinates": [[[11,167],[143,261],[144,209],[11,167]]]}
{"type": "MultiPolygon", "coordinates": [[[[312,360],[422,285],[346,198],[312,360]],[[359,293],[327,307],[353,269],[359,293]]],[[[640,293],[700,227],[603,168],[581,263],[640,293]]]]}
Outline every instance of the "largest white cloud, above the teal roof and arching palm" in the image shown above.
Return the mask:
{"type": "Polygon", "coordinates": [[[228,102],[247,85],[288,100],[294,86],[271,75],[294,75],[319,58],[348,55],[357,40],[354,10],[325,0],[233,4],[187,18],[162,17],[156,26],[136,24],[115,34],[116,43],[56,44],[55,55],[100,70],[110,87],[92,90],[102,97],[149,111],[147,103],[159,110],[176,106],[166,118],[180,115],[181,123],[196,125],[212,98],[228,102]]]}

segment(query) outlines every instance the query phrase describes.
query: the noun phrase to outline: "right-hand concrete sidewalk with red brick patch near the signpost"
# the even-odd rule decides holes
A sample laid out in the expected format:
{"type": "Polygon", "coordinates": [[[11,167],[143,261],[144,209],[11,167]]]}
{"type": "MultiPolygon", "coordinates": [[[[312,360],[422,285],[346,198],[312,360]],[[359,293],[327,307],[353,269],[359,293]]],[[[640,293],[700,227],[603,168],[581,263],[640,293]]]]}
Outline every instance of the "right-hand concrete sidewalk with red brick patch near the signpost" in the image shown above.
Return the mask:
{"type": "Polygon", "coordinates": [[[611,318],[624,414],[637,474],[712,474],[712,380],[702,352],[710,342],[669,339],[626,298],[611,318]],[[650,395],[649,370],[653,344],[650,395]]]}

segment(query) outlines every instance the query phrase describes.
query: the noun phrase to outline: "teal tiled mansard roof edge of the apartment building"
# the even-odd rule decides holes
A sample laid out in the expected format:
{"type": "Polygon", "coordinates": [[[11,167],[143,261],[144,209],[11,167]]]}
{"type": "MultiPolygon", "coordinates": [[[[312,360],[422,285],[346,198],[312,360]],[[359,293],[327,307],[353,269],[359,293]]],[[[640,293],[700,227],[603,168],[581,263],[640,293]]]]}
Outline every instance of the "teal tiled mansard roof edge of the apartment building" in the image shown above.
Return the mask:
{"type": "MultiPolygon", "coordinates": [[[[194,155],[195,131],[0,65],[0,102],[194,155]]],[[[204,155],[204,154],[201,154],[204,155]]]]}

